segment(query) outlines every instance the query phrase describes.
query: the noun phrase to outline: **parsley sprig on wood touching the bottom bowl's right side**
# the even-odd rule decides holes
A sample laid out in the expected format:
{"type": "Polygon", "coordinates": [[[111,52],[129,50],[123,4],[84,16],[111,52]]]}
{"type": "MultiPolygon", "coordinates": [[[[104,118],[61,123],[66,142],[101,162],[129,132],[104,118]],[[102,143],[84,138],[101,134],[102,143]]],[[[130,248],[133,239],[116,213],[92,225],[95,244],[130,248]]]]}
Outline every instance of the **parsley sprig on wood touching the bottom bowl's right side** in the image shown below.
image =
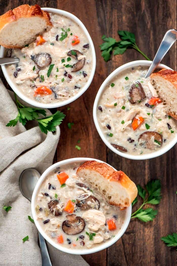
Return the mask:
{"type": "MultiPolygon", "coordinates": [[[[143,199],[143,203],[134,213],[132,213],[131,218],[138,218],[140,221],[149,222],[152,221],[158,211],[152,208],[143,209],[145,204],[157,205],[161,200],[161,182],[160,180],[149,181],[146,185],[146,190],[140,185],[137,185],[138,195],[143,199]],[[147,195],[147,197],[146,197],[147,195]]],[[[132,202],[132,206],[138,201],[137,197],[132,202]]]]}

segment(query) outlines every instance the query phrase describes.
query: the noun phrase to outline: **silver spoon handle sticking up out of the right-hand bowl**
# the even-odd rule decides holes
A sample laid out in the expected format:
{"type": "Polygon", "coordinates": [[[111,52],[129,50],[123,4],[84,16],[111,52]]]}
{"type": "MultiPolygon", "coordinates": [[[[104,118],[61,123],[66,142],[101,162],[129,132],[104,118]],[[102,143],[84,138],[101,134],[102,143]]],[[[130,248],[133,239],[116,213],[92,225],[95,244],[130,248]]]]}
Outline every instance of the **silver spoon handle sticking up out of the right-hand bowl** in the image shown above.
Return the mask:
{"type": "Polygon", "coordinates": [[[166,53],[168,52],[168,50],[171,48],[171,46],[174,44],[176,40],[177,40],[177,31],[174,29],[168,30],[163,37],[163,40],[158,48],[154,60],[152,61],[152,64],[150,65],[147,73],[144,76],[145,78],[149,77],[150,74],[156,69],[158,64],[161,62],[163,57],[166,55],[166,53]]]}

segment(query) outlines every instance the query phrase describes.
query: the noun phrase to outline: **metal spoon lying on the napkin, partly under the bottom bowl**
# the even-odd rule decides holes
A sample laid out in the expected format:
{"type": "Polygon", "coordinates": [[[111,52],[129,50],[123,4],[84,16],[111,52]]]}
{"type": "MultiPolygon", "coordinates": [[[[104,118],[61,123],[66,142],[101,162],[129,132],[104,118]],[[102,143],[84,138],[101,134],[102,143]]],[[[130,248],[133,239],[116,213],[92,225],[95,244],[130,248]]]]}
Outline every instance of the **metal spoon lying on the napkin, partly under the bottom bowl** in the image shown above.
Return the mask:
{"type": "MultiPolygon", "coordinates": [[[[34,168],[28,168],[24,170],[20,175],[19,179],[20,191],[23,194],[23,196],[27,198],[29,201],[31,201],[33,190],[40,176],[41,176],[40,173],[34,168]]],[[[52,266],[45,239],[40,234],[40,232],[38,232],[38,235],[39,235],[39,246],[41,249],[42,266],[52,266]]]]}

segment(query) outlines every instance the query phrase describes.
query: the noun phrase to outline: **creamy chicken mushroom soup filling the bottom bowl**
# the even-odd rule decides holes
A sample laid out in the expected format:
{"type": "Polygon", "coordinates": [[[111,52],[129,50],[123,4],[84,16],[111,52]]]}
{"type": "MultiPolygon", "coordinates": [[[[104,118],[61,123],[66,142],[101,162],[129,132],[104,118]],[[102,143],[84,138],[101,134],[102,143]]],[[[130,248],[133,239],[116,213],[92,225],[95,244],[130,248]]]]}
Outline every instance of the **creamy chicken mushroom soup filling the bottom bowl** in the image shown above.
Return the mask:
{"type": "Polygon", "coordinates": [[[51,172],[36,197],[36,219],[54,243],[87,249],[113,238],[126,210],[110,205],[95,187],[76,175],[72,163],[51,172]]]}

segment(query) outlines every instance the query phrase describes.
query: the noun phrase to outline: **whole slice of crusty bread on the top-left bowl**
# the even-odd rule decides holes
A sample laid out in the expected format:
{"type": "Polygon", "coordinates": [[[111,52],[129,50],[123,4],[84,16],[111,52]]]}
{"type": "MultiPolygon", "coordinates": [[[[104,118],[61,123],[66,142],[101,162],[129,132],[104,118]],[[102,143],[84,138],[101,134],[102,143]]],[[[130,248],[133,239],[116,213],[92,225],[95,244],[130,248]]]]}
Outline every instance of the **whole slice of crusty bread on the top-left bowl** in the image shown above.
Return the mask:
{"type": "Polygon", "coordinates": [[[49,13],[40,6],[21,5],[0,16],[0,45],[23,48],[51,26],[49,13]]]}

